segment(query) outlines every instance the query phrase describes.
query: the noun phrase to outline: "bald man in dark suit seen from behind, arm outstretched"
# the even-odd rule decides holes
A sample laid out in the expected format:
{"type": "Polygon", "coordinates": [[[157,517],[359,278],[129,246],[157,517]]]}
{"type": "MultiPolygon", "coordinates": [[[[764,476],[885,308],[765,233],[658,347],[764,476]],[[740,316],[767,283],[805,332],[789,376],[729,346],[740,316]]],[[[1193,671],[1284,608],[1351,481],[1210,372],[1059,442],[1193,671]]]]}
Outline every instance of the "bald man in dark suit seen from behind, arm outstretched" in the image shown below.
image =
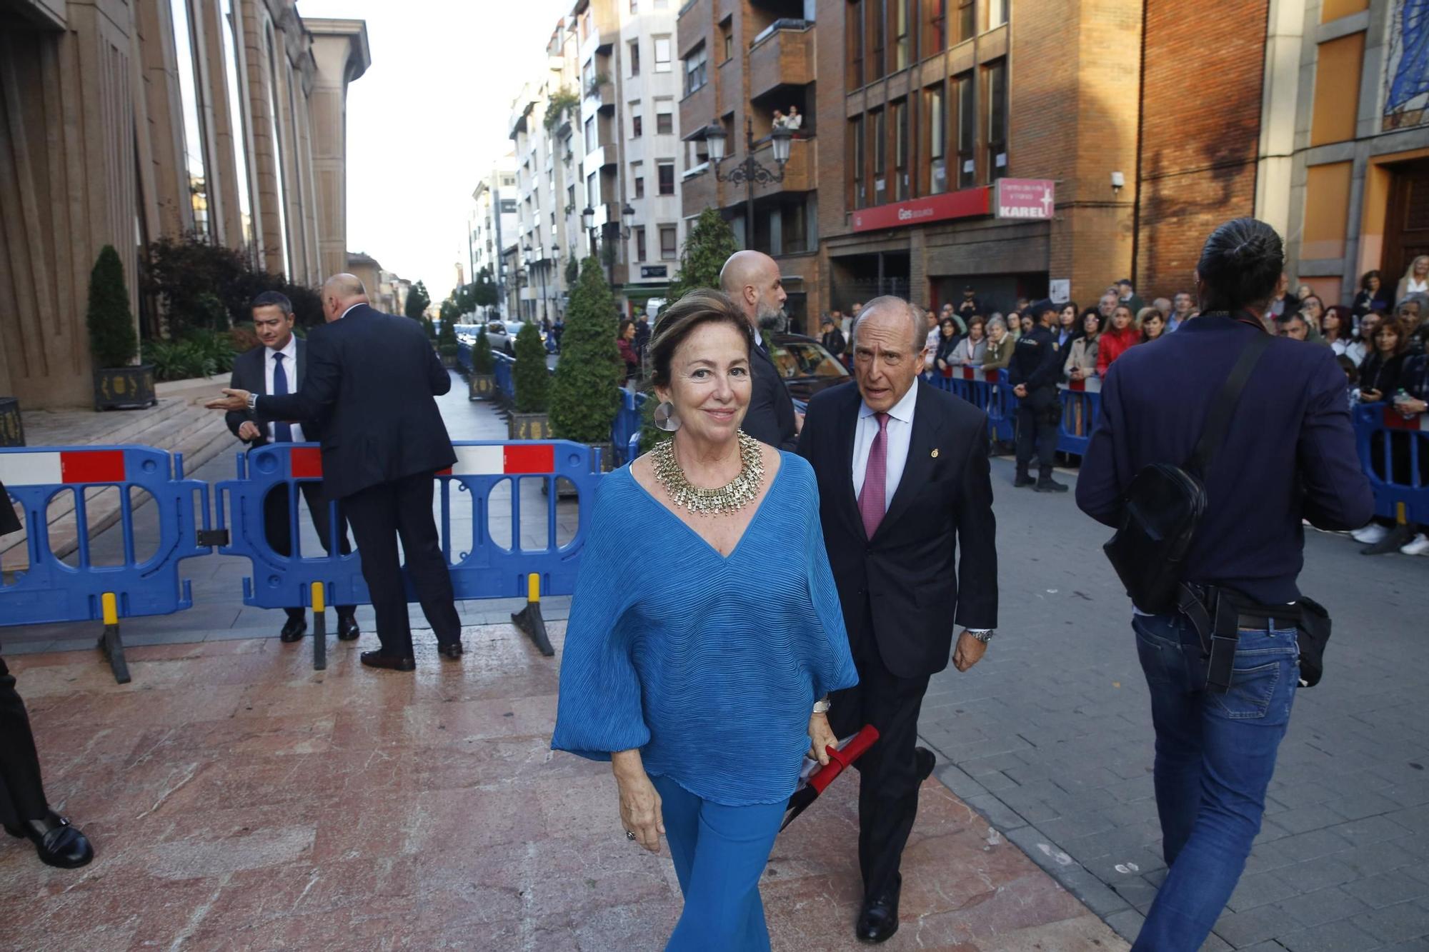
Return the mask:
{"type": "Polygon", "coordinates": [[[209,406],[249,409],[266,420],[326,420],[323,490],[327,499],[342,500],[352,523],[382,639],[382,650],[363,652],[363,665],[416,669],[399,536],[440,650],[459,659],[462,622],[432,517],[433,475],[456,462],[433,399],[452,389],[452,376],[422,324],[372,309],[353,274],[327,279],[323,314],[327,324],[307,336],[300,390],[259,396],[229,389],[209,406]]]}

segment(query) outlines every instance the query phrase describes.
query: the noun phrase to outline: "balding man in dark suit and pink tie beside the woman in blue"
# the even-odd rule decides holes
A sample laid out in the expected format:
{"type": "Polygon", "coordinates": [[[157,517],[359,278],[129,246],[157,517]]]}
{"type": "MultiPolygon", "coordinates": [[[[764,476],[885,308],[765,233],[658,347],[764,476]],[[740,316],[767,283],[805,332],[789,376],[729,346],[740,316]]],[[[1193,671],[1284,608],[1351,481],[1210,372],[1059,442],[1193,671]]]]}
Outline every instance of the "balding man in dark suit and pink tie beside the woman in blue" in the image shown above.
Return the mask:
{"type": "Polygon", "coordinates": [[[820,517],[859,685],[832,698],[839,736],[865,723],[880,739],[860,760],[856,935],[897,931],[899,862],[919,783],[917,748],[932,675],[982,658],[997,626],[997,549],[987,416],[919,380],[923,313],[877,297],[853,326],[855,385],[809,403],[799,453],[819,479],[820,517]],[[962,557],[957,547],[962,546],[962,557]],[[953,650],[953,628],[962,635],[953,650]]]}

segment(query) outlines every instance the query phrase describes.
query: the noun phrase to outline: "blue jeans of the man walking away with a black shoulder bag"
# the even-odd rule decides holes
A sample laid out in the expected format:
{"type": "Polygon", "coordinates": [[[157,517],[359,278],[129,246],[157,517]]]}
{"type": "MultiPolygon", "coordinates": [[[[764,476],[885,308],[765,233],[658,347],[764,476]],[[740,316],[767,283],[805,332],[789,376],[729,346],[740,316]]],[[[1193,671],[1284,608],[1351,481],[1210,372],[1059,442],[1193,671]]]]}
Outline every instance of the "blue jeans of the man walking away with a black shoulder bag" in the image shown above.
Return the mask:
{"type": "Polygon", "coordinates": [[[1283,622],[1242,629],[1230,690],[1216,695],[1199,689],[1200,640],[1183,616],[1137,615],[1132,628],[1152,692],[1156,812],[1170,868],[1132,952],[1195,952],[1260,832],[1300,649],[1283,622]]]}

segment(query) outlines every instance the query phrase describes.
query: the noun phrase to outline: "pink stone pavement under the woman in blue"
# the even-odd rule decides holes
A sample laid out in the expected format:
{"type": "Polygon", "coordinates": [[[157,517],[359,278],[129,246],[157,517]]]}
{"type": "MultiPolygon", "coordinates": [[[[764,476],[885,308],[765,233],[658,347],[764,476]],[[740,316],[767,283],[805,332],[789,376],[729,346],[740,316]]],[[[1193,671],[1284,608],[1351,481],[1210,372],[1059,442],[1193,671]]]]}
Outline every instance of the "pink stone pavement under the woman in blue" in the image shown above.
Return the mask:
{"type": "MultiPolygon", "coordinates": [[[[624,841],[609,768],[547,748],[556,659],[507,626],[467,629],[460,663],[423,635],[414,676],[336,642],[314,673],[277,639],[134,648],[124,686],[96,653],[14,658],[50,799],[97,859],[50,869],[4,838],[7,948],[662,948],[669,859],[624,841]]],[[[775,949],[862,948],[856,788],[776,842],[775,949]]],[[[903,872],[890,952],[1126,948],[936,780],[903,872]]]]}

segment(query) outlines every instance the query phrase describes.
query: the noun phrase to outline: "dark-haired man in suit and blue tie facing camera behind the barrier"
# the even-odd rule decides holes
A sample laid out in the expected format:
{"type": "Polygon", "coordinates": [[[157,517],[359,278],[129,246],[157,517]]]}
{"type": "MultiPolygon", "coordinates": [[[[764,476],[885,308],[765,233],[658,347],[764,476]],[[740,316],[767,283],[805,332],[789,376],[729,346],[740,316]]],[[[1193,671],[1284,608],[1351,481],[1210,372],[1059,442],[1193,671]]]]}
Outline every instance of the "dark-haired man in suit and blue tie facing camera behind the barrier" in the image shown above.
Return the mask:
{"type": "MultiPolygon", "coordinates": [[[[307,376],[307,342],[293,333],[293,302],[286,294],[277,292],[263,292],[253,299],[253,330],[257,333],[260,346],[247,353],[239,354],[233,362],[233,376],[229,386],[234,390],[247,390],[260,395],[293,393],[302,386],[307,376]]],[[[323,420],[310,419],[302,423],[283,423],[259,420],[247,409],[229,410],[224,417],[229,429],[249,447],[266,446],[269,443],[317,443],[323,439],[323,420]]],[[[329,535],[332,520],[329,519],[329,505],[323,499],[322,482],[300,483],[303,499],[313,515],[313,527],[323,545],[323,552],[329,550],[329,535]]],[[[289,519],[292,497],[287,483],[280,483],[263,500],[263,532],[273,552],[280,556],[293,555],[293,522],[289,519]]],[[[343,555],[350,553],[352,543],[347,542],[347,520],[339,516],[337,532],[339,545],[343,555]]],[[[279,638],[284,642],[296,642],[307,630],[307,612],[302,605],[286,609],[287,622],[279,638]]],[[[344,642],[357,640],[362,630],[357,628],[353,605],[337,606],[337,638],[344,642]]]]}

